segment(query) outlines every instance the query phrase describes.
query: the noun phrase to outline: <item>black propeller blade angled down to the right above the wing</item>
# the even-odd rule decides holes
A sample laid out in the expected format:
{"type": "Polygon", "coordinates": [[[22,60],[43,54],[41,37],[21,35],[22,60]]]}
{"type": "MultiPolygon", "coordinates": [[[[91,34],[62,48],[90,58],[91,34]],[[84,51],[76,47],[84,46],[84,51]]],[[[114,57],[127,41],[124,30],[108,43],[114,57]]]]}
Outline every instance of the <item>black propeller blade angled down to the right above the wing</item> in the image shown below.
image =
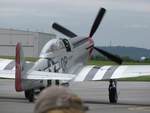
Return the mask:
{"type": "Polygon", "coordinates": [[[94,47],[94,49],[97,50],[98,52],[100,52],[101,54],[103,54],[104,56],[106,56],[108,59],[116,62],[119,65],[121,65],[122,62],[123,62],[123,60],[120,57],[115,56],[115,55],[113,55],[113,54],[111,54],[111,53],[109,53],[107,51],[104,51],[104,50],[102,50],[102,49],[100,49],[98,47],[94,47]]]}

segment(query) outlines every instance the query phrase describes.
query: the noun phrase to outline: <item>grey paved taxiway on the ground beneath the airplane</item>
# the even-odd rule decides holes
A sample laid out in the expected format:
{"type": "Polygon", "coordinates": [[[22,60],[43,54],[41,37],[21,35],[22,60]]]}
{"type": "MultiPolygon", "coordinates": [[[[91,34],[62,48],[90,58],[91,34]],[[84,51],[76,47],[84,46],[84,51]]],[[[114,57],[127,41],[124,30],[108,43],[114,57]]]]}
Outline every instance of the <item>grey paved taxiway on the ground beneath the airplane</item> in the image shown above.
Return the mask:
{"type": "MultiPolygon", "coordinates": [[[[108,102],[108,82],[73,83],[70,89],[89,106],[87,113],[149,113],[150,82],[118,82],[118,104],[108,102]]],[[[0,80],[0,113],[33,113],[34,103],[15,92],[13,80],[0,80]]]]}

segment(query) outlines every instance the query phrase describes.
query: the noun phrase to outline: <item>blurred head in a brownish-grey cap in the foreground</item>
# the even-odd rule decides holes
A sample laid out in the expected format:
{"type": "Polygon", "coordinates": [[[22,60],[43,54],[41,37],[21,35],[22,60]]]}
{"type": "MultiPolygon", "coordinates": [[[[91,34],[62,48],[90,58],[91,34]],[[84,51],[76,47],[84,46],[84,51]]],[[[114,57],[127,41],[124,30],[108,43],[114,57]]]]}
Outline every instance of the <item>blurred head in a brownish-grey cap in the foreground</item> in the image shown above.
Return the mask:
{"type": "Polygon", "coordinates": [[[34,108],[34,113],[84,113],[82,100],[64,87],[44,89],[34,108]]]}

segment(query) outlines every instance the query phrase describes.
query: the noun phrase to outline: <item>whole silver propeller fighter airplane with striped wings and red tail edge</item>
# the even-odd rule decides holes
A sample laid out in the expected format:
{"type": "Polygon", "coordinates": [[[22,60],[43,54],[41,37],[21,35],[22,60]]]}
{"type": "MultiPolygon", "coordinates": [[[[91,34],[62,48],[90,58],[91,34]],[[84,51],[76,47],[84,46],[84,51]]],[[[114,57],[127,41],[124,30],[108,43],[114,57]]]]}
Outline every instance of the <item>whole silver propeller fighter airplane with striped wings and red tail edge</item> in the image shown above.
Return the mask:
{"type": "Polygon", "coordinates": [[[96,49],[108,59],[118,64],[122,60],[98,47],[94,46],[92,36],[97,30],[105,9],[101,8],[93,23],[88,37],[78,37],[75,33],[60,26],[53,24],[53,28],[69,39],[52,39],[43,47],[39,60],[34,64],[25,62],[21,44],[16,45],[16,62],[9,61],[7,65],[4,61],[0,61],[0,77],[15,78],[16,91],[24,91],[25,97],[32,102],[34,100],[34,90],[42,89],[43,81],[47,80],[49,85],[51,80],[59,81],[90,81],[90,80],[106,80],[109,85],[109,100],[116,103],[117,82],[119,78],[149,76],[150,65],[113,65],[113,66],[95,66],[86,65],[88,58],[91,56],[92,50],[96,49]],[[12,65],[16,64],[16,67],[12,65]]]}

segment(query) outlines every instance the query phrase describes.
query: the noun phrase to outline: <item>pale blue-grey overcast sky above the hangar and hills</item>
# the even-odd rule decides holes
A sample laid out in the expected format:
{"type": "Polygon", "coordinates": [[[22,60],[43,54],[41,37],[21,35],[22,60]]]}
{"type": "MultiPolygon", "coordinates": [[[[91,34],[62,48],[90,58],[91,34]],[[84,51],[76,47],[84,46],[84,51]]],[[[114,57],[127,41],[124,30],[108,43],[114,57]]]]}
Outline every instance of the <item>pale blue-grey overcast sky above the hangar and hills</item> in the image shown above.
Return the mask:
{"type": "Polygon", "coordinates": [[[107,11],[93,39],[97,46],[150,49],[150,0],[0,0],[0,28],[55,33],[57,22],[88,36],[98,10],[107,11]]]}

